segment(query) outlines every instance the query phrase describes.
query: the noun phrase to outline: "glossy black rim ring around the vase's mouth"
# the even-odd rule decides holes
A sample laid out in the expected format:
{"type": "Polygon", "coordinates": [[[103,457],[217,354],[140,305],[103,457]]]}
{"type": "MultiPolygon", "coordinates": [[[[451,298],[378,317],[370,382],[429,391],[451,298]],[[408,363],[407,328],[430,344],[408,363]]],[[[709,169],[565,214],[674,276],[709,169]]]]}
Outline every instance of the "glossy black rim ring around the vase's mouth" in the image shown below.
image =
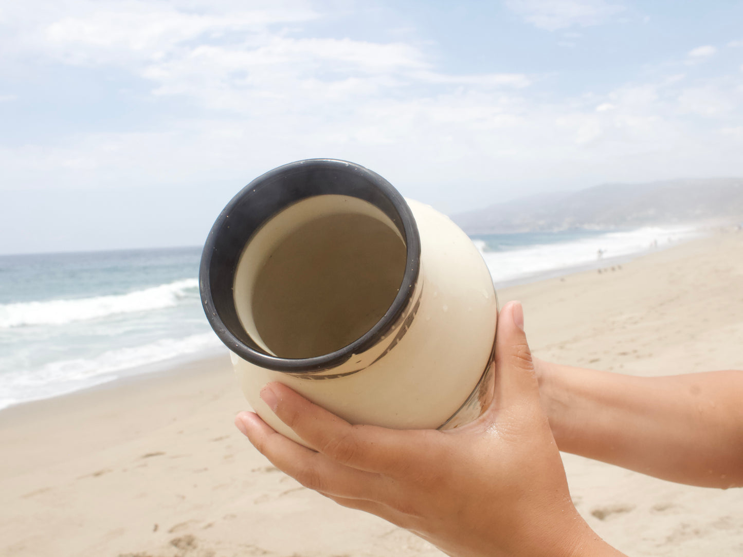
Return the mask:
{"type": "Polygon", "coordinates": [[[212,329],[230,351],[261,368],[307,374],[337,368],[354,354],[362,354],[380,342],[395,327],[408,306],[420,267],[421,238],[415,218],[403,196],[391,183],[364,166],[346,160],[298,160],[257,177],[222,209],[201,254],[199,290],[212,329]],[[328,194],[349,195],[369,201],[385,212],[397,227],[406,248],[406,267],[400,289],[379,321],[343,348],[301,359],[267,354],[250,339],[237,318],[231,280],[234,279],[239,255],[262,224],[282,209],[306,198],[328,194]],[[254,215],[256,212],[257,216],[254,215]],[[242,244],[237,245],[240,235],[244,238],[242,244]]]}

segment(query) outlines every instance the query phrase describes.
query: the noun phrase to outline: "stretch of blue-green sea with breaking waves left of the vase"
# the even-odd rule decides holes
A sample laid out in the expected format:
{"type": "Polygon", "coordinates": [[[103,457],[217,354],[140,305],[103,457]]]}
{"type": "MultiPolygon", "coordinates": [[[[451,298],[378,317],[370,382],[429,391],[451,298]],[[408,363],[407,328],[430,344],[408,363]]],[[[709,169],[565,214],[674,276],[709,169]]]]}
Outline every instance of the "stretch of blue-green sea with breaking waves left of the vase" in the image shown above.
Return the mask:
{"type": "Polygon", "coordinates": [[[0,408],[224,351],[197,247],[0,256],[0,408]]]}

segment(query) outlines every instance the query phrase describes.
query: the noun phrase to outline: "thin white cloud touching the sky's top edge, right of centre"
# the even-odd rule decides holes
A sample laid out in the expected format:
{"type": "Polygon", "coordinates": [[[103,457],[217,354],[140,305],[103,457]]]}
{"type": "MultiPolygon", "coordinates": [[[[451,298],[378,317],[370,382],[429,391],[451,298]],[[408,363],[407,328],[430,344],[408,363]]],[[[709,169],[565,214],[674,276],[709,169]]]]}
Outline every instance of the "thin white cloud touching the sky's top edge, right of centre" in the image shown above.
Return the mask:
{"type": "Polygon", "coordinates": [[[535,27],[549,31],[600,25],[625,10],[623,5],[605,0],[506,0],[506,6],[535,27]]]}

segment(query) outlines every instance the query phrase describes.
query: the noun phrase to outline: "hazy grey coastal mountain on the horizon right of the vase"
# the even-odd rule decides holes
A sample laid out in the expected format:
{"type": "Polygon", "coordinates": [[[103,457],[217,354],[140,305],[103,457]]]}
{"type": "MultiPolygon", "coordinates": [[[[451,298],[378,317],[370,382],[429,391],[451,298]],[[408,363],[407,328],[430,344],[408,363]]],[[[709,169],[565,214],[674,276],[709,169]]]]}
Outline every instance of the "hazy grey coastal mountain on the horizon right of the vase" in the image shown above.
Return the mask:
{"type": "Polygon", "coordinates": [[[607,183],[497,203],[451,218],[467,234],[735,222],[743,218],[743,178],[607,183]]]}

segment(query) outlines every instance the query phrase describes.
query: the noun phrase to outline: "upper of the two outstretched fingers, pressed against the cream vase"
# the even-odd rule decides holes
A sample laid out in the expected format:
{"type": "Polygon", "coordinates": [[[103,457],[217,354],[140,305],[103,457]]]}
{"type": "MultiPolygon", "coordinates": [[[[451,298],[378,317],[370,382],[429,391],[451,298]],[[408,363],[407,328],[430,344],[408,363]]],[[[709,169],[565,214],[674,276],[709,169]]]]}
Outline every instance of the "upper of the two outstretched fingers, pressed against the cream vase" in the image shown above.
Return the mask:
{"type": "Polygon", "coordinates": [[[266,385],[261,398],[313,449],[345,466],[392,473],[414,452],[409,432],[351,426],[281,383],[266,385]]]}

